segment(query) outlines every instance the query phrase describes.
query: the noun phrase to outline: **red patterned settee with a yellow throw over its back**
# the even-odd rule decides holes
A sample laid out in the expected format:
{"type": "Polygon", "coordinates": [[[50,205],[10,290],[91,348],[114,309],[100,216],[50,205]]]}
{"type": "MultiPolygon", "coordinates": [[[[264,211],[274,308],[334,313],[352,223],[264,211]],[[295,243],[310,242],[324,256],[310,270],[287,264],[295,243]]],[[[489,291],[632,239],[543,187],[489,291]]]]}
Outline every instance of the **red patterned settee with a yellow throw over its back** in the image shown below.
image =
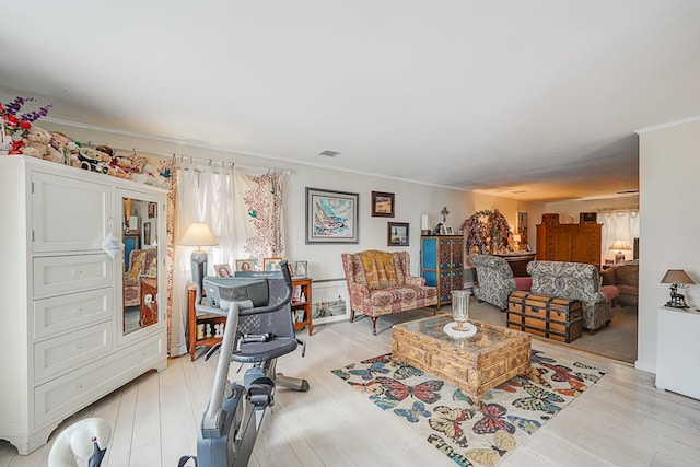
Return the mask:
{"type": "Polygon", "coordinates": [[[408,252],[343,253],[342,267],[350,295],[350,322],[355,312],[376,320],[382,315],[438,305],[438,289],[410,275],[408,252]]]}

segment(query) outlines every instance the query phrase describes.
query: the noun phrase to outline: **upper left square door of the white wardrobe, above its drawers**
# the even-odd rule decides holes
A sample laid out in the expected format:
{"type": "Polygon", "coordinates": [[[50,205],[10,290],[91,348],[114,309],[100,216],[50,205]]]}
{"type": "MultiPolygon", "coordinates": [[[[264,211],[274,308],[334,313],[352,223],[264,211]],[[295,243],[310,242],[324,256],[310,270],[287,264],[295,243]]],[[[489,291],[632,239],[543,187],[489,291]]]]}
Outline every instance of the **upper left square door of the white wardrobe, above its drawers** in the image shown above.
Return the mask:
{"type": "Polygon", "coordinates": [[[107,235],[109,186],[34,172],[34,253],[94,252],[107,235]]]}

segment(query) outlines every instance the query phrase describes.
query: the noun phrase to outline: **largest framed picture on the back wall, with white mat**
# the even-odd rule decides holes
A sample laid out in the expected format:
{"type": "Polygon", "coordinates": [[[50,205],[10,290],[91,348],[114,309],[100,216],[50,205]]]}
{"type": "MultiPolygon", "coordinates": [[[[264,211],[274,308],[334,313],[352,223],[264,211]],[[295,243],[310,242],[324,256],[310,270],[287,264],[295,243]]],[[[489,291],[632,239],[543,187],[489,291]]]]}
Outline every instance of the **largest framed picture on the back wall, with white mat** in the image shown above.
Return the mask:
{"type": "Polygon", "coordinates": [[[357,192],[306,188],[306,244],[358,243],[357,192]]]}

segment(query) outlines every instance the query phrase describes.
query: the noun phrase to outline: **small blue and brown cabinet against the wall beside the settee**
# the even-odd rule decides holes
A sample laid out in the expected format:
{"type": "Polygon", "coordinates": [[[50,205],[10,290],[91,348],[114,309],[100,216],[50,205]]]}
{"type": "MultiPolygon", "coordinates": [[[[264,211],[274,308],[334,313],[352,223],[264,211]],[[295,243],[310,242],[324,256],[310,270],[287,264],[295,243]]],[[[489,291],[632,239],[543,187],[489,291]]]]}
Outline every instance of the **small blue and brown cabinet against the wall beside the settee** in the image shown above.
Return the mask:
{"type": "Polygon", "coordinates": [[[436,287],[439,304],[452,303],[452,291],[464,289],[462,235],[420,237],[420,273],[425,285],[436,287]]]}

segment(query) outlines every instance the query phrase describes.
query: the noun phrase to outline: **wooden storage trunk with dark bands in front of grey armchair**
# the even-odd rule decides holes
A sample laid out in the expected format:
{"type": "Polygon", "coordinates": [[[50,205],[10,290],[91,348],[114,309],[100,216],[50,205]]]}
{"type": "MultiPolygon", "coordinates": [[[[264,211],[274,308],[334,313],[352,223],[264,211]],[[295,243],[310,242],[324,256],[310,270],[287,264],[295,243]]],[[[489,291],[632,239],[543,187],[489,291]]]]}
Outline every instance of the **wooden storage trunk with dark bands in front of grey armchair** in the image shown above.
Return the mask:
{"type": "Polygon", "coordinates": [[[508,327],[571,342],[581,337],[581,302],[516,290],[508,300],[508,327]]]}

